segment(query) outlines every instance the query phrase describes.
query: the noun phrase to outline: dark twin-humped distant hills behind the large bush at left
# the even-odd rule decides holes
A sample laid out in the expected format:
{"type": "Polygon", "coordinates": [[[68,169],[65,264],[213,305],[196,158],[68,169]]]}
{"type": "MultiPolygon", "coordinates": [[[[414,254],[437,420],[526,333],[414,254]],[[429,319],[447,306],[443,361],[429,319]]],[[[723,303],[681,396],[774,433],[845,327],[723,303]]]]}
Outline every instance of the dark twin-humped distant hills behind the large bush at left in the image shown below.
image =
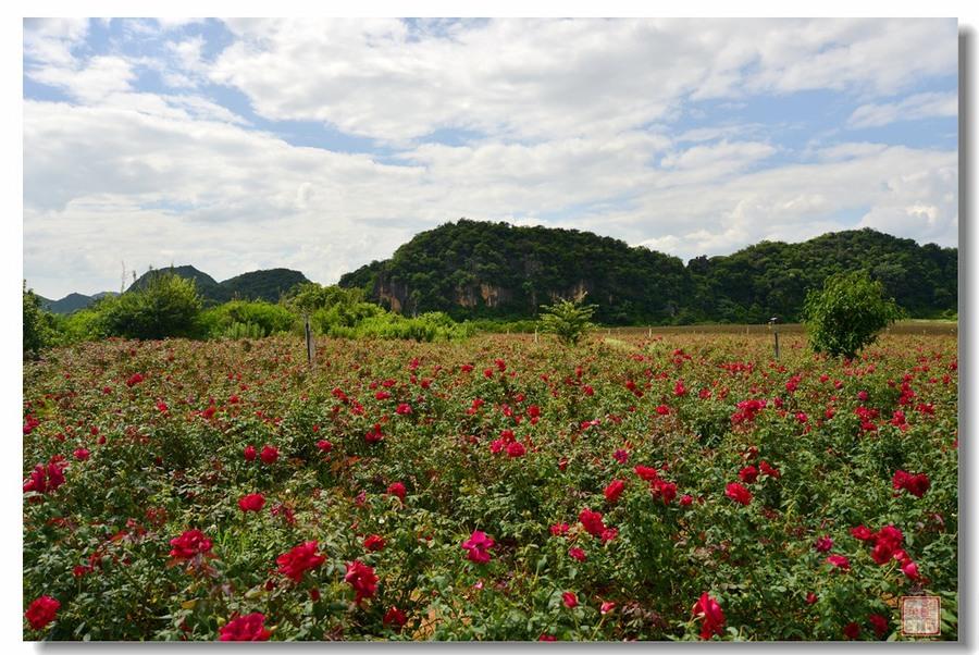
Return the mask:
{"type": "Polygon", "coordinates": [[[142,288],[153,275],[161,273],[173,273],[181,277],[194,280],[198,293],[205,299],[205,305],[220,305],[232,299],[277,302],[280,296],[295,285],[309,282],[306,275],[299,271],[270,269],[244,273],[219,283],[207,273],[191,265],[183,265],[150,270],[133,282],[126,291],[142,288]]]}

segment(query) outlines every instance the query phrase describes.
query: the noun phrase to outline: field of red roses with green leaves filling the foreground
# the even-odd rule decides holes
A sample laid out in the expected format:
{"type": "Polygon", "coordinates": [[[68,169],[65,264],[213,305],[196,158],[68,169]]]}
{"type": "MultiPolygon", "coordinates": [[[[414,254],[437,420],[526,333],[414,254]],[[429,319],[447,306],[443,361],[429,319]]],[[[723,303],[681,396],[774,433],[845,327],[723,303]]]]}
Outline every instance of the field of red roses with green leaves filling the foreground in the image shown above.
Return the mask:
{"type": "Polygon", "coordinates": [[[24,366],[28,640],[957,637],[957,342],[126,342],[24,366]]]}

